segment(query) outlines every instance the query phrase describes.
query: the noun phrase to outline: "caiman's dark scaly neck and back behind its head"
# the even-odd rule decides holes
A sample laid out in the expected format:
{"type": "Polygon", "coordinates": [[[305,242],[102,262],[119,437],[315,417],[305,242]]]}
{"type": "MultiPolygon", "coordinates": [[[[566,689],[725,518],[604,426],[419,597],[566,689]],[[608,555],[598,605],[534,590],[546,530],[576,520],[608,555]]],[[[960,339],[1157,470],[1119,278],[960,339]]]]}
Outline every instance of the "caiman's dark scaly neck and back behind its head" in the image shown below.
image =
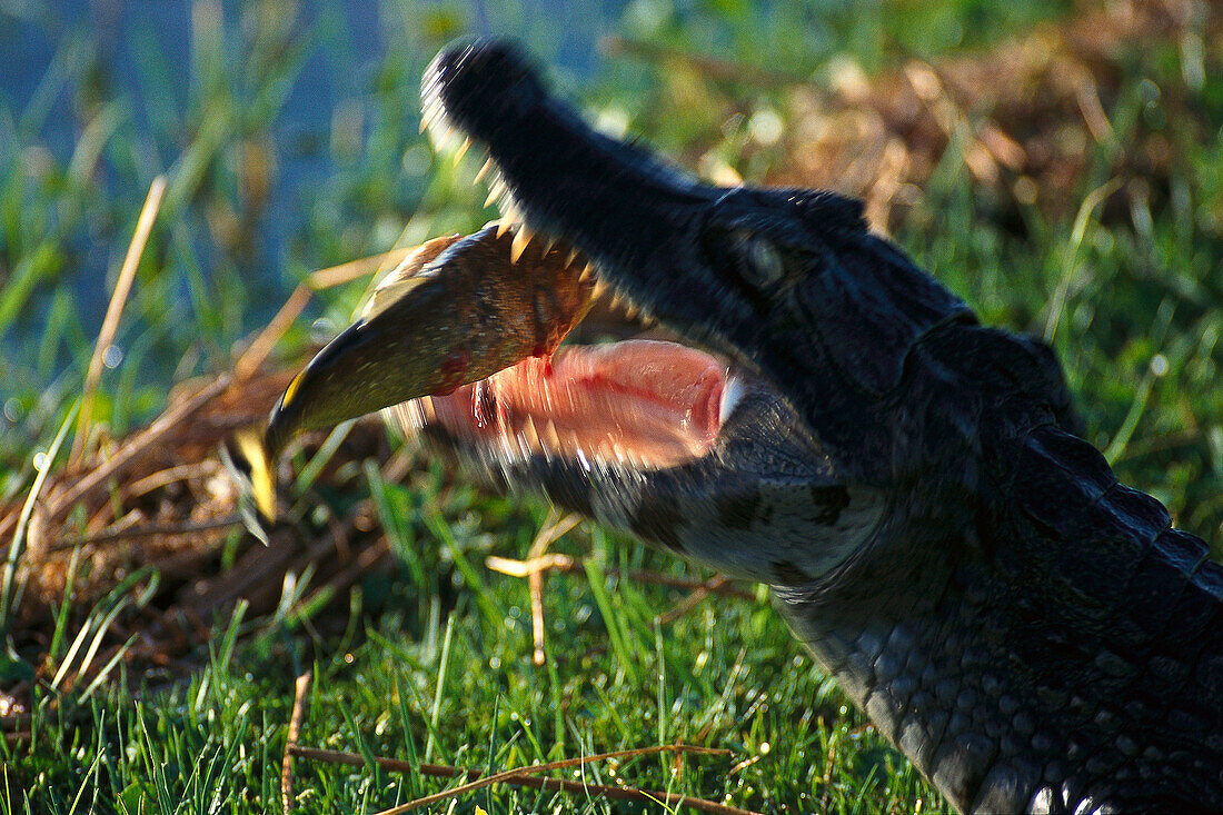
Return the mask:
{"type": "MultiPolygon", "coordinates": [[[[999,339],[967,330],[961,354],[999,339]]],[[[1223,569],[1047,399],[970,401],[951,423],[994,432],[965,426],[985,441],[932,452],[936,488],[872,545],[777,587],[790,627],[963,811],[1223,806],[1223,569]]]]}

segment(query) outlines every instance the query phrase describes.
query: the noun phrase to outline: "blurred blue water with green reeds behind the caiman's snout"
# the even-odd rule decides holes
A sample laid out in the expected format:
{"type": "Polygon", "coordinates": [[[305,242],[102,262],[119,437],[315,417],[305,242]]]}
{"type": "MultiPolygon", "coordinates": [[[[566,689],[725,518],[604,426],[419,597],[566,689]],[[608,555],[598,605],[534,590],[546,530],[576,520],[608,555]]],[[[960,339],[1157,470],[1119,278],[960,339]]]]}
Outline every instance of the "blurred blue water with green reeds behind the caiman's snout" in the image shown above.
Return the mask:
{"type": "MultiPolygon", "coordinates": [[[[158,409],[155,383],[164,390],[224,366],[307,272],[390,248],[406,225],[408,240],[419,240],[478,220],[481,202],[454,190],[449,169],[438,173],[417,128],[421,72],[455,37],[519,39],[609,128],[646,132],[665,149],[681,148],[681,159],[700,159],[726,133],[735,141],[763,133],[764,146],[777,147],[790,113],[774,108],[779,97],[827,77],[829,66],[874,72],[905,55],[985,45],[1068,9],[6,2],[4,420],[18,438],[37,437],[45,420],[37,416],[39,399],[59,401],[57,381],[73,387],[65,374],[97,337],[158,174],[169,181],[160,223],[108,357],[110,378],[122,378],[120,367],[139,372],[115,392],[122,404],[106,415],[116,430],[158,409]],[[618,38],[631,40],[629,54],[618,38]],[[675,55],[665,49],[725,60],[725,70],[671,71],[675,55]],[[715,87],[702,87],[707,81],[715,87]],[[671,106],[664,113],[659,102],[671,106]]],[[[737,169],[761,176],[780,158],[774,152],[737,169]]],[[[347,317],[346,306],[340,312],[347,317]]]]}

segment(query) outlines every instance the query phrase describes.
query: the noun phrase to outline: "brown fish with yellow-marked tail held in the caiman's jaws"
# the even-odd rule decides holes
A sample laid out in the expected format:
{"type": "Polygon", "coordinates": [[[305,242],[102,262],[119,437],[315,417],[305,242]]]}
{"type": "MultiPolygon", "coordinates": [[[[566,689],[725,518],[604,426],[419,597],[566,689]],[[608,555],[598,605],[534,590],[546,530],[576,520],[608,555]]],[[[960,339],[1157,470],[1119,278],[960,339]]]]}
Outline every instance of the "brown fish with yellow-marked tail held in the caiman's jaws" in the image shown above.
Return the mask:
{"type": "Polygon", "coordinates": [[[275,518],[274,467],[303,431],[550,359],[594,302],[588,269],[580,252],[533,239],[522,224],[493,221],[418,246],[289,383],[262,436],[238,436],[256,505],[275,518]],[[404,363],[377,365],[386,357],[404,363]]]}

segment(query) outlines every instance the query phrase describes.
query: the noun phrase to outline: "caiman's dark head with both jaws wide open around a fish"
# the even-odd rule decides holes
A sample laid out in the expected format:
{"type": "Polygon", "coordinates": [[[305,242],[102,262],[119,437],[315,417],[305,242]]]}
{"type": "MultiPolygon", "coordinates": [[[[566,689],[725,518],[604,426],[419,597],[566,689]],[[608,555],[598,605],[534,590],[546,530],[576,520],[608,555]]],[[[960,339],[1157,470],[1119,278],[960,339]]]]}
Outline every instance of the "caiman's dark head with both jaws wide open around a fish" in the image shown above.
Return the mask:
{"type": "MultiPolygon", "coordinates": [[[[615,387],[523,394],[541,381],[528,360],[498,388],[407,405],[407,423],[495,481],[772,585],[807,582],[865,551],[906,485],[937,494],[942,470],[914,455],[932,422],[912,405],[945,383],[923,377],[914,393],[909,370],[927,338],[976,321],[867,231],[859,202],[693,179],[593,130],[503,42],[438,55],[422,103],[439,141],[487,154],[503,223],[578,250],[600,286],[682,345],[566,346],[566,370],[580,370],[570,378],[615,387]],[[498,396],[515,404],[490,405],[498,396]],[[660,436],[684,453],[659,454],[660,436]]],[[[342,394],[405,367],[416,344],[395,341],[402,321],[360,328],[360,343],[324,352],[330,371],[351,374],[296,394],[295,410],[364,412],[342,394]]],[[[269,434],[283,423],[274,415],[269,434]]],[[[933,423],[948,439],[971,431],[958,410],[933,423]]]]}

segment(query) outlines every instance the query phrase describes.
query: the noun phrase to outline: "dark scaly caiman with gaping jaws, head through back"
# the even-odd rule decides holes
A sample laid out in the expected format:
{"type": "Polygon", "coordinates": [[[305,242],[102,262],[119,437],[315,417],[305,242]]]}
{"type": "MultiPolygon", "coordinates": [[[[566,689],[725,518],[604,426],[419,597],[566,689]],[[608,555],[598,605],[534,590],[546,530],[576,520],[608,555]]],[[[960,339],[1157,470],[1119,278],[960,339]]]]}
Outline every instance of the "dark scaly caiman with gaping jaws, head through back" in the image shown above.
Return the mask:
{"type": "MultiPolygon", "coordinates": [[[[980,324],[856,201],[597,132],[510,44],[444,50],[423,105],[487,153],[520,247],[576,247],[684,344],[550,368],[523,345],[406,414],[501,485],[772,586],[961,811],[1223,811],[1223,568],[1080,438],[1049,348],[980,324]]],[[[396,330],[338,341],[341,387],[290,405],[371,410],[342,385],[421,365],[396,330]]]]}

